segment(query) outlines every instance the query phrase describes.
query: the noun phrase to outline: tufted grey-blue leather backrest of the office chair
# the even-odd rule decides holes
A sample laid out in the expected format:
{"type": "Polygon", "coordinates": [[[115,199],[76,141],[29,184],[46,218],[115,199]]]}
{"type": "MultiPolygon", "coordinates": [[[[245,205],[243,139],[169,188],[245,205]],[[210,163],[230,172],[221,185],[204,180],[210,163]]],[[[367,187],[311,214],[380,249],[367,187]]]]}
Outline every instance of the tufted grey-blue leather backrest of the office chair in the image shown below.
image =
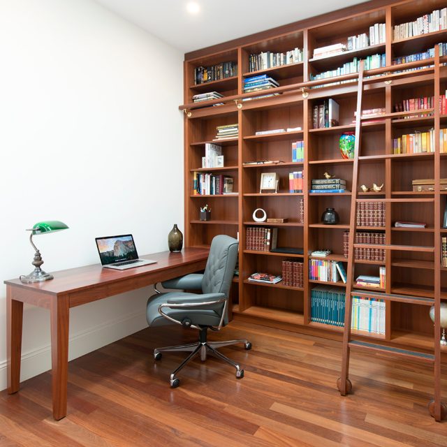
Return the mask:
{"type": "Polygon", "coordinates": [[[225,293],[228,298],[237,261],[239,242],[227,235],[217,235],[211,242],[205,273],[203,293],[225,293]]]}

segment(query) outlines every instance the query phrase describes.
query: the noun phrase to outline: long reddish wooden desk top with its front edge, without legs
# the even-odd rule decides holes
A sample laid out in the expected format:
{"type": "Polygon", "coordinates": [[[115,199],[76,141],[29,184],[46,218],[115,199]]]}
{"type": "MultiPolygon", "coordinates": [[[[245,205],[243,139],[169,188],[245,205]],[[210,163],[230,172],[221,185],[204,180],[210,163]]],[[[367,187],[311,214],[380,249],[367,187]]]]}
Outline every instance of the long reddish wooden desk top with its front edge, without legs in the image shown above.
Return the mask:
{"type": "Polygon", "coordinates": [[[182,265],[198,263],[207,259],[210,250],[207,248],[184,248],[180,253],[170,253],[161,251],[160,253],[140,256],[140,258],[153,259],[155,264],[142,265],[141,267],[129,268],[128,270],[114,270],[103,268],[101,264],[85,265],[84,267],[71,268],[51,272],[54,279],[37,282],[33,284],[23,284],[20,279],[10,279],[4,281],[8,286],[25,288],[31,291],[41,291],[50,295],[61,293],[73,293],[83,289],[107,286],[122,280],[135,279],[148,275],[157,275],[163,270],[171,270],[182,265]]]}

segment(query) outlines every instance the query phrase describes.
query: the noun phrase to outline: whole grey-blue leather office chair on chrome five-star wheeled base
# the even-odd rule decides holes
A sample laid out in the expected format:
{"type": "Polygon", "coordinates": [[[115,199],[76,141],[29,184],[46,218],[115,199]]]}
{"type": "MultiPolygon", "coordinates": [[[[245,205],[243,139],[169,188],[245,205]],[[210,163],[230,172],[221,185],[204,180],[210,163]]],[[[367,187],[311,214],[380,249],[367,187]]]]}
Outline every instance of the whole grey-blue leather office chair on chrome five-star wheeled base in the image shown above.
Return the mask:
{"type": "Polygon", "coordinates": [[[236,368],[237,379],[242,379],[244,376],[244,369],[241,369],[240,365],[233,360],[223,356],[216,348],[243,343],[245,349],[251,349],[251,343],[247,339],[207,342],[208,329],[220,330],[228,323],[228,292],[237,260],[237,245],[238,242],[233,237],[218,235],[212,240],[203,274],[187,274],[161,283],[165,288],[198,290],[200,293],[182,291],[161,293],[155,287],[156,295],[152,295],[147,301],[146,316],[149,326],[177,323],[199,331],[199,339],[196,343],[154,349],[155,360],[161,359],[162,352],[191,351],[182,364],[170,374],[172,388],[177,388],[180,383],[176,377],[177,372],[199,353],[203,361],[206,360],[207,353],[210,353],[233,365],[236,368]]]}

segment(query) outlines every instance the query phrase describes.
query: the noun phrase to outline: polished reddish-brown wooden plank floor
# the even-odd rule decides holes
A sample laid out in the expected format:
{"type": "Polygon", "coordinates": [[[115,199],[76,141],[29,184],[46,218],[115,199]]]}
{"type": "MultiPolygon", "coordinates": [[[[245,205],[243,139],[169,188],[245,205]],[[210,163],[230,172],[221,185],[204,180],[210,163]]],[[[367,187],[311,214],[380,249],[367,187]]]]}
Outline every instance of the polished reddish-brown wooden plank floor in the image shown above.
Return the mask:
{"type": "Polygon", "coordinates": [[[354,394],[341,397],[339,342],[233,321],[210,339],[251,340],[251,351],[221,349],[244,379],[213,358],[194,360],[172,390],[184,353],[154,362],[152,349],[195,335],[151,328],[73,360],[59,422],[49,372],[1,392],[0,446],[447,446],[447,421],[427,412],[429,367],[353,352],[354,394]]]}

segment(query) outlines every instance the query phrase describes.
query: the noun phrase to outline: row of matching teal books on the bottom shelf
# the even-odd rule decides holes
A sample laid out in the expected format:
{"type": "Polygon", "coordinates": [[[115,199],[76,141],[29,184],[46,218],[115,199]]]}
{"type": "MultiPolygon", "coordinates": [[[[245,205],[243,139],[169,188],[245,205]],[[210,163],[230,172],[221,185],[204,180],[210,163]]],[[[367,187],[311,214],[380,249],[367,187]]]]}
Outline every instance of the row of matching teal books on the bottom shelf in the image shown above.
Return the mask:
{"type": "Polygon", "coordinates": [[[311,321],[344,326],[346,291],[339,287],[318,286],[311,291],[311,321]]]}

